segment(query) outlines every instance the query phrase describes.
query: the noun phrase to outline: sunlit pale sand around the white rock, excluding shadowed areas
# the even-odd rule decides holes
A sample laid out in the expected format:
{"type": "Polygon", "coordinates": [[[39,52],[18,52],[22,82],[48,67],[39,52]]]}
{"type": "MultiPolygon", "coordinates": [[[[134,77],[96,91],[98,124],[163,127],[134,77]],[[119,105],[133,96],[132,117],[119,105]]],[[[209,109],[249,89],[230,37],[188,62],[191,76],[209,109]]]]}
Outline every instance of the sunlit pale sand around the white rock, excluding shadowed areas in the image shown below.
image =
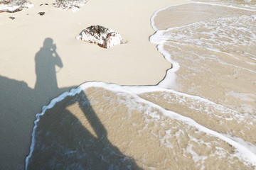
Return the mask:
{"type": "Polygon", "coordinates": [[[171,64],[149,42],[154,33],[150,18],[157,9],[182,2],[93,0],[73,13],[54,8],[51,1],[32,1],[33,8],[1,13],[1,76],[25,81],[33,88],[36,52],[46,38],[52,38],[63,62],[57,73],[59,87],[94,80],[126,85],[157,84],[171,64]],[[43,3],[49,6],[39,6],[43,3]],[[39,16],[41,11],[46,14],[39,16]],[[105,50],[75,40],[82,29],[96,24],[116,30],[128,43],[105,50]]]}

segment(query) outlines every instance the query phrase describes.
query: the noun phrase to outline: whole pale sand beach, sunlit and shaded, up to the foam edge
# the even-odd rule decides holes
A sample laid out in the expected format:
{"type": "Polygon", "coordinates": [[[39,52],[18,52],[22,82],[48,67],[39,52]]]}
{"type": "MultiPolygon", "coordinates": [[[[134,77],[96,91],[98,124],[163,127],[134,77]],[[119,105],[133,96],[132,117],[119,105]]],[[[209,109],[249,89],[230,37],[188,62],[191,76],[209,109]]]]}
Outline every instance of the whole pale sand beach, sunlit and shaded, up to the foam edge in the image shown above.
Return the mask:
{"type": "Polygon", "coordinates": [[[171,64],[149,42],[154,33],[150,17],[159,8],[186,1],[91,0],[76,13],[54,8],[48,0],[31,2],[33,8],[0,14],[0,169],[23,169],[36,113],[70,87],[94,80],[125,85],[161,81],[171,64]],[[40,6],[44,3],[49,6],[40,6]],[[46,14],[39,16],[41,11],[46,14]],[[105,50],[75,40],[82,29],[96,24],[116,30],[127,44],[105,50]],[[63,67],[52,72],[55,63],[41,58],[44,83],[34,89],[35,56],[44,56],[40,50],[46,38],[56,45],[63,67]]]}

